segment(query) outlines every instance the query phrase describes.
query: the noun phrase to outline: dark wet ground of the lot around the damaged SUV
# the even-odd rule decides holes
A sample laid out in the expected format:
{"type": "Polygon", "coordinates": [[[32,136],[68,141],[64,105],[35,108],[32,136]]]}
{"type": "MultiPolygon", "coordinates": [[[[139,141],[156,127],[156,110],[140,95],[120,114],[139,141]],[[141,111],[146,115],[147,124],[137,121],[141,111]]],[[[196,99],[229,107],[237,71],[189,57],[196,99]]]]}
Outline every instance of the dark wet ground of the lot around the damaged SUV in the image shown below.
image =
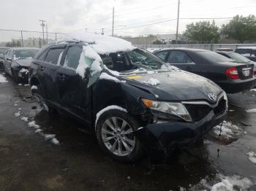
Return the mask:
{"type": "Polygon", "coordinates": [[[213,130],[170,163],[152,165],[143,157],[128,165],[99,150],[79,122],[41,111],[29,86],[7,80],[0,83],[0,190],[211,190],[227,177],[250,181],[248,190],[256,190],[256,164],[246,155],[256,152],[256,113],[246,112],[256,108],[256,91],[228,96],[222,136],[213,130]]]}

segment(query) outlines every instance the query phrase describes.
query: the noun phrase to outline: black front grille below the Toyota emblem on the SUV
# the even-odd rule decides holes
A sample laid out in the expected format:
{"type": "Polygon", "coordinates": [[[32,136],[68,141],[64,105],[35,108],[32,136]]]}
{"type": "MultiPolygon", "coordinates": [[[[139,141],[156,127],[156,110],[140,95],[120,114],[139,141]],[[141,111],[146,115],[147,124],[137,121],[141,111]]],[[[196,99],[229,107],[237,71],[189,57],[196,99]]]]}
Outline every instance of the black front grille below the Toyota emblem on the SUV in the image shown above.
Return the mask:
{"type": "Polygon", "coordinates": [[[192,117],[192,120],[199,121],[202,120],[203,117],[206,117],[206,115],[211,112],[211,110],[214,111],[214,114],[219,116],[223,114],[226,110],[226,101],[222,97],[219,99],[219,103],[217,106],[211,107],[208,104],[184,104],[186,106],[187,111],[189,112],[190,116],[192,117]]]}

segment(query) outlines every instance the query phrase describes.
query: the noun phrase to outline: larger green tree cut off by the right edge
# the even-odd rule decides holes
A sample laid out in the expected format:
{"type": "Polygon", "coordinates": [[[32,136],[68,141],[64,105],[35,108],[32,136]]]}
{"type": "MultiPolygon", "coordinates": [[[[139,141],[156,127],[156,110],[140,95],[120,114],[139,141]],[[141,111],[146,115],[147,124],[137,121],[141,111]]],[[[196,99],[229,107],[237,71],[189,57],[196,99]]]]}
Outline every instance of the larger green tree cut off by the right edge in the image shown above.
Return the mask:
{"type": "Polygon", "coordinates": [[[234,39],[243,43],[245,41],[256,41],[256,17],[249,15],[243,17],[236,15],[230,23],[223,25],[221,29],[222,38],[234,39]]]}

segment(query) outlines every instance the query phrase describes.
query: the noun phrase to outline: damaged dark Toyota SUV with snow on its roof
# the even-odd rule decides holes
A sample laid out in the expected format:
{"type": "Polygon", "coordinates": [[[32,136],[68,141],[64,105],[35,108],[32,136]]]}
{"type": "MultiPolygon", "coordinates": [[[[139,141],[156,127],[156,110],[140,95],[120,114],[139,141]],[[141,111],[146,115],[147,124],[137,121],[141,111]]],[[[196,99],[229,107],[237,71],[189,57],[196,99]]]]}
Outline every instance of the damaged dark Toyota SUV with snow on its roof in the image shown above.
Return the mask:
{"type": "Polygon", "coordinates": [[[191,144],[224,120],[227,95],[209,79],[123,39],[75,39],[37,53],[29,69],[31,93],[44,109],[95,128],[99,147],[113,159],[135,161],[145,150],[165,158],[170,148],[191,144]]]}

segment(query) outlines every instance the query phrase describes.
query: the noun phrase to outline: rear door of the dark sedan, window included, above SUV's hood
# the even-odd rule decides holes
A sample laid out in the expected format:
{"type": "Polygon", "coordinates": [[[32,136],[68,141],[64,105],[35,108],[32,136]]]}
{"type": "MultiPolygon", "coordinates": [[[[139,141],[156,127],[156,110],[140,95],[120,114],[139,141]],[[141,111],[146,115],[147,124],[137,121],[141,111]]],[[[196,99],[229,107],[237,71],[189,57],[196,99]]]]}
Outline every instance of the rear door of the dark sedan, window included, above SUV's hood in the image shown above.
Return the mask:
{"type": "Polygon", "coordinates": [[[167,63],[173,66],[183,69],[185,71],[191,71],[196,73],[196,66],[187,52],[181,50],[171,50],[167,56],[167,63]]]}

